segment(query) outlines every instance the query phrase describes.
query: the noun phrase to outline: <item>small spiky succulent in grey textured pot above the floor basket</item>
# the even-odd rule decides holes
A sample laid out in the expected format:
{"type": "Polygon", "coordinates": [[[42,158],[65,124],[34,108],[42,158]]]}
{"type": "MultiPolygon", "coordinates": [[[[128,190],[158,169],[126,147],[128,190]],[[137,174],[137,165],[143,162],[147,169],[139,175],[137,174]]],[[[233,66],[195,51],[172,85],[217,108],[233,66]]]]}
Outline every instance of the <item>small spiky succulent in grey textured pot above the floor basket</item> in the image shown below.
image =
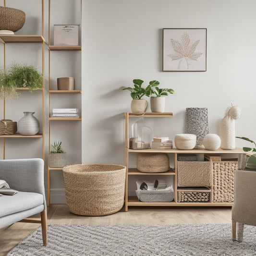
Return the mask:
{"type": "Polygon", "coordinates": [[[53,150],[49,152],[49,167],[63,167],[66,164],[66,152],[61,148],[61,141],[54,141],[53,150]]]}

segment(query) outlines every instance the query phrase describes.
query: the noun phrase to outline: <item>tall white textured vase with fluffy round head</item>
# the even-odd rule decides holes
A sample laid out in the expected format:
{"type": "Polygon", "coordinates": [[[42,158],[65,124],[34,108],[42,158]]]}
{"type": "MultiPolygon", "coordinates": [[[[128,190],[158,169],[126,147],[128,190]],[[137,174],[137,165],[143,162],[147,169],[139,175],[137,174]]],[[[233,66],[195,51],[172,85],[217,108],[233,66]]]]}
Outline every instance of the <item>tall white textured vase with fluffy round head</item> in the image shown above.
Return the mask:
{"type": "Polygon", "coordinates": [[[220,121],[219,136],[222,149],[235,149],[235,120],[240,117],[241,110],[238,106],[228,107],[225,116],[220,121]]]}

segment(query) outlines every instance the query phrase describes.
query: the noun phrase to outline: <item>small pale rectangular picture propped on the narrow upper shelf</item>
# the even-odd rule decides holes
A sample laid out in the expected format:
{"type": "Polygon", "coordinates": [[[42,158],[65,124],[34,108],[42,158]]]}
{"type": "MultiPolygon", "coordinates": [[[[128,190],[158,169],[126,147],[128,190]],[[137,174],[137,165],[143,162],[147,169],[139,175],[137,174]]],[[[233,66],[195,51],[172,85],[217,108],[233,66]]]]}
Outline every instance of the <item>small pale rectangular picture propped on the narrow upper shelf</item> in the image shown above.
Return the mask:
{"type": "Polygon", "coordinates": [[[77,46],[79,25],[54,25],[53,45],[77,46]]]}

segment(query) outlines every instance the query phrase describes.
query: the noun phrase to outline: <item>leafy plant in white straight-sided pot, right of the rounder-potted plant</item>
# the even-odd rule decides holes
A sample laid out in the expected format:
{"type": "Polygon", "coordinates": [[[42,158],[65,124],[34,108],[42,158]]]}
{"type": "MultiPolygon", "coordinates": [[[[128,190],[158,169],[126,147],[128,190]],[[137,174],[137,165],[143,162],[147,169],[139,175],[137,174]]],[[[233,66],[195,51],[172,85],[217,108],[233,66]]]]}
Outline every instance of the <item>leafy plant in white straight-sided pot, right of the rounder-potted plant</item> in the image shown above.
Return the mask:
{"type": "Polygon", "coordinates": [[[146,91],[146,96],[150,97],[150,109],[152,112],[164,112],[165,97],[162,97],[162,96],[168,96],[168,94],[174,94],[173,89],[159,88],[158,87],[159,84],[160,83],[158,81],[155,81],[155,83],[152,85],[149,84],[148,85],[149,88],[146,91]]]}

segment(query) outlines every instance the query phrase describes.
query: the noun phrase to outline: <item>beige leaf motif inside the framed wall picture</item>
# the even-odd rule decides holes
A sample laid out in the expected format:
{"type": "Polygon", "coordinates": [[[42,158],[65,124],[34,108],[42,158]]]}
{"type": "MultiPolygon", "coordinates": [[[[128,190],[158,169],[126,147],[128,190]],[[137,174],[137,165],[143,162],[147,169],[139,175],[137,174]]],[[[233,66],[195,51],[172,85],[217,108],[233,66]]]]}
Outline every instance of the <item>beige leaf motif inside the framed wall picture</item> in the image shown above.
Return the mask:
{"type": "Polygon", "coordinates": [[[187,64],[187,69],[189,69],[188,61],[197,61],[203,54],[202,52],[195,52],[199,42],[200,40],[196,40],[191,44],[188,33],[184,32],[180,42],[171,38],[171,45],[174,53],[168,54],[167,56],[170,57],[172,61],[182,60],[184,58],[187,64]]]}

